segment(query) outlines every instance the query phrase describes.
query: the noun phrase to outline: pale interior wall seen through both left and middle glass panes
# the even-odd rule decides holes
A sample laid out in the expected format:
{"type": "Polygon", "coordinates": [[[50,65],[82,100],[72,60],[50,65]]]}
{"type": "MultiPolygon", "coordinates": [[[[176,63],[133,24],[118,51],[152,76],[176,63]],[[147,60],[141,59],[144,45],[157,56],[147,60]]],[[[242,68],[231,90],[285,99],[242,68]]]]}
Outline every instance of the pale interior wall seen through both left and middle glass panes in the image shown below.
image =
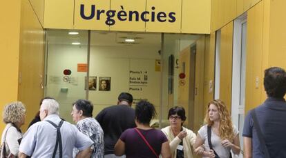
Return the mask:
{"type": "MultiPolygon", "coordinates": [[[[139,46],[91,46],[90,76],[97,77],[97,90],[90,90],[88,99],[94,104],[93,115],[107,106],[117,103],[120,92],[130,92],[134,99],[148,99],[159,111],[160,103],[160,71],[155,71],[155,59],[160,59],[160,48],[139,46]],[[139,86],[140,90],[132,90],[130,77],[144,74],[133,74],[130,71],[146,72],[148,83],[139,86]],[[99,91],[99,77],[111,77],[111,91],[99,91]]],[[[86,99],[86,72],[77,72],[77,63],[87,63],[87,47],[72,45],[48,46],[48,69],[46,96],[55,97],[60,103],[61,117],[72,121],[70,111],[72,103],[77,99],[86,99]],[[63,81],[64,69],[70,69],[73,81],[63,81]],[[67,92],[61,88],[68,89],[67,92]]]]}

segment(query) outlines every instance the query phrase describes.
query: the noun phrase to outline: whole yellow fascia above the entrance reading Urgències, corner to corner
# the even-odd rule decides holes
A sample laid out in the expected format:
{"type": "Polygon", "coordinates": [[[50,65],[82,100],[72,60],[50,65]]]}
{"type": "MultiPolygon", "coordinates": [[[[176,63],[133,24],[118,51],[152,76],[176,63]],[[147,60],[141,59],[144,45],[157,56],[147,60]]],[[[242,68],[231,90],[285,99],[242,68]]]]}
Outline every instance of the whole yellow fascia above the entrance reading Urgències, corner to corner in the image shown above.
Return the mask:
{"type": "Polygon", "coordinates": [[[61,27],[72,24],[77,30],[198,34],[209,33],[210,6],[211,0],[74,0],[73,8],[55,6],[61,11],[50,14],[57,16],[64,11],[66,15],[73,10],[72,18],[65,16],[66,23],[60,23],[61,27]]]}

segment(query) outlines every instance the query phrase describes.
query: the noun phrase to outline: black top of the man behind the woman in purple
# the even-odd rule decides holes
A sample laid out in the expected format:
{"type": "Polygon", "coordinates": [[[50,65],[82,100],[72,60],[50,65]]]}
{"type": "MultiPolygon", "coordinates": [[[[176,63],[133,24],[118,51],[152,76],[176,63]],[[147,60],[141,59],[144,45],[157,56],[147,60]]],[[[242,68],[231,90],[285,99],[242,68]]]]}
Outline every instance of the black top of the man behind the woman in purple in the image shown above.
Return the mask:
{"type": "Polygon", "coordinates": [[[104,155],[114,154],[114,146],[122,132],[136,127],[135,110],[126,105],[104,108],[95,119],[104,130],[104,155]]]}

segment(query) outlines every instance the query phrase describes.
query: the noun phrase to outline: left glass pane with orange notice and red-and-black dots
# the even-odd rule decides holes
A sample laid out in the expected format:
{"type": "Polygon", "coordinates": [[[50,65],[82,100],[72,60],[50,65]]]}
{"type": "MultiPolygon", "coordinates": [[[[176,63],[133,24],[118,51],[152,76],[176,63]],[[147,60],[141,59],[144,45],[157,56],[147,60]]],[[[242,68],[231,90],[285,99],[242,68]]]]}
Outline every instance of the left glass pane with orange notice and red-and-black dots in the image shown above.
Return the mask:
{"type": "Polygon", "coordinates": [[[60,116],[73,122],[73,102],[86,99],[88,32],[47,30],[46,41],[46,96],[57,99],[60,116]]]}

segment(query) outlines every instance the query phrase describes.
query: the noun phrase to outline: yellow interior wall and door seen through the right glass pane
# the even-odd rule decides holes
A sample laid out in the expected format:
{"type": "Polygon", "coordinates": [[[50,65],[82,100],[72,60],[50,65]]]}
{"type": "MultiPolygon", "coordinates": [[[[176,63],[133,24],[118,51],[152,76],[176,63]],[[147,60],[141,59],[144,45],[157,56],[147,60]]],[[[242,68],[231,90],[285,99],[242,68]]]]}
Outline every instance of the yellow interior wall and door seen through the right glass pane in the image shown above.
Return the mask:
{"type": "MultiPolygon", "coordinates": [[[[205,37],[202,36],[196,41],[196,55],[191,52],[191,46],[180,52],[179,66],[182,68],[182,63],[185,63],[184,79],[179,79],[178,87],[178,105],[183,106],[186,110],[187,121],[185,125],[197,132],[203,124],[204,119],[204,52],[205,52],[205,37]],[[195,57],[195,58],[194,58],[195,57]],[[191,68],[192,63],[196,64],[191,68]],[[191,70],[190,70],[191,68],[191,70]],[[193,84],[191,79],[192,71],[195,71],[195,89],[190,88],[193,84]],[[184,85],[181,85],[184,81],[184,85]],[[190,99],[194,96],[194,100],[190,99]],[[192,102],[193,101],[193,102],[192,102]],[[188,122],[189,121],[189,122],[188,122]]],[[[180,70],[182,72],[182,70],[180,70]]]]}

